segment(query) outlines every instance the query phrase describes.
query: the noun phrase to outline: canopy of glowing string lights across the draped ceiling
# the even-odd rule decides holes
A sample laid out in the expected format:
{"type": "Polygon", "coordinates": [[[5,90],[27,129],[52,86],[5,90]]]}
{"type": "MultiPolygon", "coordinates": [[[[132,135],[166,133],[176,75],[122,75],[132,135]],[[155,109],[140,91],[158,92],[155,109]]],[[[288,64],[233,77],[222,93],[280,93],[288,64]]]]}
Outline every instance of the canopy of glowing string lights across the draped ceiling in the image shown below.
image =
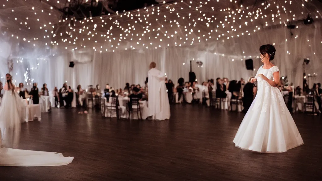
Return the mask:
{"type": "MultiPolygon", "coordinates": [[[[62,1],[56,2],[55,6],[58,8],[64,6],[62,1]]],[[[118,12],[83,20],[75,18],[58,20],[57,17],[60,15],[56,16],[59,14],[55,10],[56,7],[54,8],[53,4],[44,3],[44,5],[33,4],[34,6],[29,7],[28,10],[33,12],[33,17],[23,19],[16,17],[12,7],[8,19],[22,30],[29,32],[26,34],[35,36],[24,37],[25,35],[16,33],[11,34],[12,37],[28,42],[35,48],[43,43],[65,51],[93,47],[93,51],[96,52],[115,52],[231,41],[263,31],[264,28],[259,26],[263,22],[265,22],[265,28],[276,24],[284,26],[291,21],[305,19],[307,15],[303,12],[294,14],[291,11],[291,9],[305,9],[306,1],[300,4],[292,1],[271,1],[254,8],[238,3],[240,2],[219,0],[191,0],[187,4],[185,1],[170,4],[162,2],[160,5],[130,12],[118,12]],[[218,10],[217,7],[222,9],[218,10]],[[220,13],[214,13],[216,10],[220,13]],[[35,31],[33,27],[29,27],[29,24],[39,29],[35,31]]],[[[11,2],[6,1],[3,7],[10,7],[10,4],[11,2]]],[[[321,17],[318,10],[312,11],[311,15],[316,18],[321,17]]],[[[298,35],[295,36],[296,38],[298,35]]],[[[285,39],[285,42],[287,41],[285,39]]],[[[224,53],[219,54],[225,56],[224,53]]],[[[244,54],[247,55],[249,52],[242,51],[241,57],[245,58],[244,54]]]]}

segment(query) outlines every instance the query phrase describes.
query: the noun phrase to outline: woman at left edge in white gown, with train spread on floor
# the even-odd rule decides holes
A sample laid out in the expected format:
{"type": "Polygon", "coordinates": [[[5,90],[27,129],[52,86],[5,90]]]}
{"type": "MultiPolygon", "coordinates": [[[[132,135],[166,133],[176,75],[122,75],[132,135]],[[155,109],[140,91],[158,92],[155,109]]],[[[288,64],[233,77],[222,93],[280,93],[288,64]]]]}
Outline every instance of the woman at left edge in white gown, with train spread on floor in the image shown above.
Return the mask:
{"type": "Polygon", "coordinates": [[[13,149],[19,143],[20,113],[24,103],[15,91],[10,74],[6,74],[6,80],[0,106],[0,166],[60,166],[71,163],[74,157],[63,157],[61,153],[13,149]]]}

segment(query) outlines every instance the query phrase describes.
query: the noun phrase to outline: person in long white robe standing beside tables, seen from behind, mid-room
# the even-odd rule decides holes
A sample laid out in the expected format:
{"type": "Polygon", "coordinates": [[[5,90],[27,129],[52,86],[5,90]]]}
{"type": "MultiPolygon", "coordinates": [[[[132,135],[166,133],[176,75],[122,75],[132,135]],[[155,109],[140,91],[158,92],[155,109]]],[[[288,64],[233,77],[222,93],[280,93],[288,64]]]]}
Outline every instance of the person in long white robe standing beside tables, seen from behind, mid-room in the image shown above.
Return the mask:
{"type": "Polygon", "coordinates": [[[166,75],[156,69],[156,63],[151,62],[148,71],[148,116],[152,119],[170,119],[170,104],[166,92],[166,75]]]}

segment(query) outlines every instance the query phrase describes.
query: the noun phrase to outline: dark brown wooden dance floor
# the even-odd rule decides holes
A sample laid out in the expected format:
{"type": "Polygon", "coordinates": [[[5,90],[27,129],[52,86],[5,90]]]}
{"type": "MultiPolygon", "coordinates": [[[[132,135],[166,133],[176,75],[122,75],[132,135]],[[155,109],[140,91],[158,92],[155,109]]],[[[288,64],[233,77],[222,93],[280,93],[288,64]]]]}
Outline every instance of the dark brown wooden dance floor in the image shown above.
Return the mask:
{"type": "Polygon", "coordinates": [[[304,145],[259,154],[232,140],[244,114],[172,105],[165,121],[102,119],[98,111],[53,109],[22,124],[20,149],[62,152],[61,167],[0,167],[0,180],[322,180],[322,119],[293,115],[304,145]]]}

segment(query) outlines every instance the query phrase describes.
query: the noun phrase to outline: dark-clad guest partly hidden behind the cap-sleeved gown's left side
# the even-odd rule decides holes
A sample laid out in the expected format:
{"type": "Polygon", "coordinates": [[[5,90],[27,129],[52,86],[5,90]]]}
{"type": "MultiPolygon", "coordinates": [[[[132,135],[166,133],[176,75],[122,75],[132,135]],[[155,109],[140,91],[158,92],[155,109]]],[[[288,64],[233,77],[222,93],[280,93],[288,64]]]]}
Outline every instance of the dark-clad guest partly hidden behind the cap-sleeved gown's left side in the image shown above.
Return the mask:
{"type": "Polygon", "coordinates": [[[244,109],[242,112],[246,113],[249,108],[251,107],[251,103],[254,100],[254,97],[257,93],[257,88],[254,83],[251,83],[251,79],[254,77],[250,77],[248,82],[245,84],[243,91],[244,91],[244,97],[242,98],[243,101],[243,107],[244,109]]]}

